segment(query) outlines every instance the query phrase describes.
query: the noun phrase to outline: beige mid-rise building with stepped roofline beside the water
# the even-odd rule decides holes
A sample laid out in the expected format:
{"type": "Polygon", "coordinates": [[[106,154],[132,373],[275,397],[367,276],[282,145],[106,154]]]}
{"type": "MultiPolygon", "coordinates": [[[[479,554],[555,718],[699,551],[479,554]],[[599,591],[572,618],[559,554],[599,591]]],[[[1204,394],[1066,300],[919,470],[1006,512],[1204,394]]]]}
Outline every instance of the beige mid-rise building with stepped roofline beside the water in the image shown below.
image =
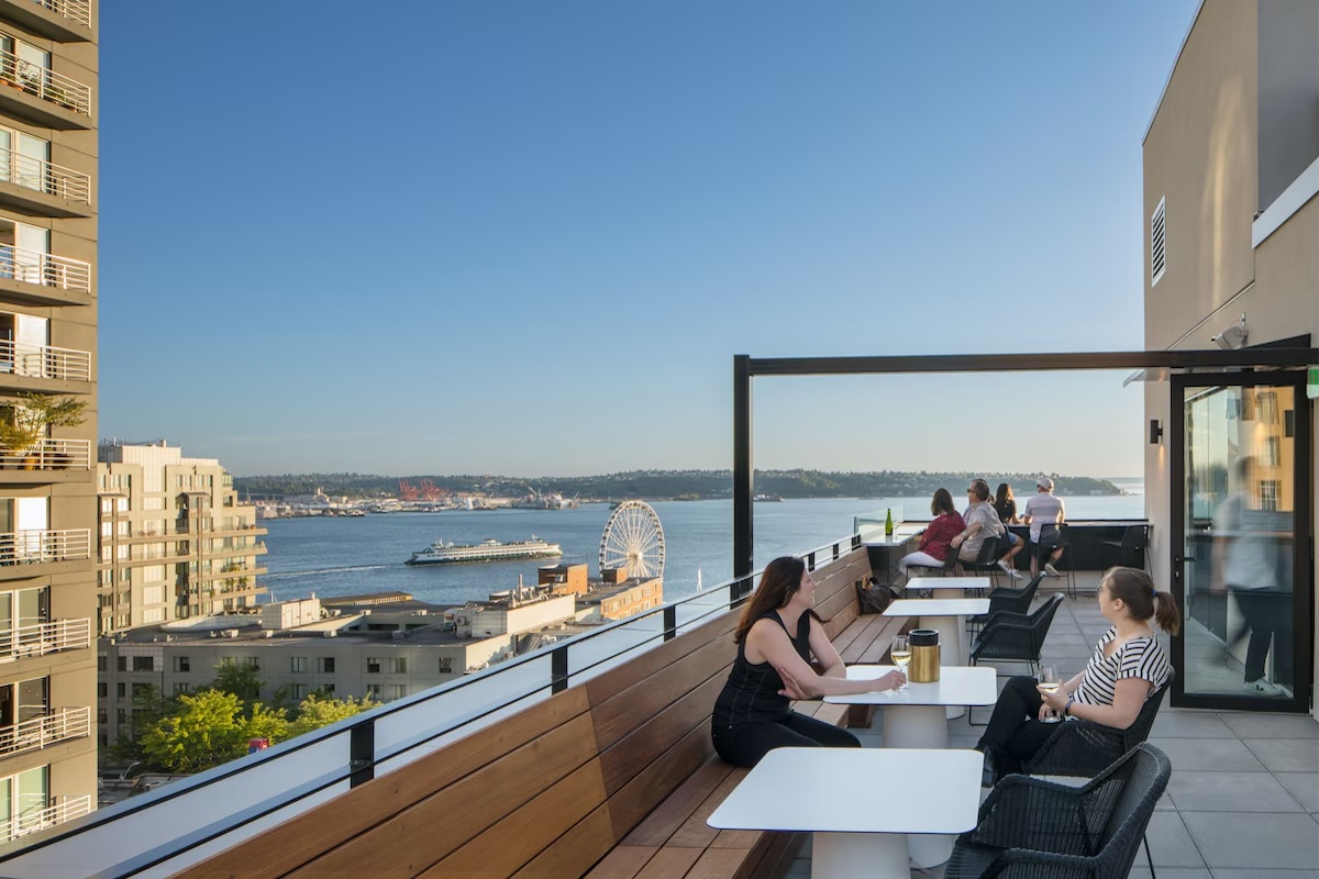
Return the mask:
{"type": "Polygon", "coordinates": [[[98,448],[98,633],[253,609],[266,530],[216,459],[164,440],[98,448]]]}

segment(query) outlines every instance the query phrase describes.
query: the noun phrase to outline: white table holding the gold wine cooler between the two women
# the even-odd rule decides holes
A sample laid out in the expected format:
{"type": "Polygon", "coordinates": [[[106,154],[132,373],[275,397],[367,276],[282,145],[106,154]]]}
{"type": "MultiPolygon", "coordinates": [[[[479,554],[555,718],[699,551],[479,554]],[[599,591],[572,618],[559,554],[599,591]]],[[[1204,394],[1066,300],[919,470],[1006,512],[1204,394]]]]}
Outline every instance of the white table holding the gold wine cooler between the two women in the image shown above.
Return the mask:
{"type": "MultiPolygon", "coordinates": [[[[874,680],[896,666],[848,666],[848,680],[874,680]]],[[[989,666],[946,666],[939,680],[907,684],[905,691],[826,696],[826,702],[839,705],[882,705],[884,747],[947,747],[948,705],[993,705],[998,698],[998,681],[989,666]]]]}

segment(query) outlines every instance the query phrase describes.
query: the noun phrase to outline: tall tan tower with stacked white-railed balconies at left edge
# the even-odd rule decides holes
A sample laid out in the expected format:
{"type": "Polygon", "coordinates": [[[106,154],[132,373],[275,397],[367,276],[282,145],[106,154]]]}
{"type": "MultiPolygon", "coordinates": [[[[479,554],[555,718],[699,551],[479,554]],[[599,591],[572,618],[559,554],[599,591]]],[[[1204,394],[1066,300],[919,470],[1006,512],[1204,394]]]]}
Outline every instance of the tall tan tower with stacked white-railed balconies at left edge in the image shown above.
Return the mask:
{"type": "Polygon", "coordinates": [[[0,843],[95,807],[98,40],[0,0],[0,843]]]}

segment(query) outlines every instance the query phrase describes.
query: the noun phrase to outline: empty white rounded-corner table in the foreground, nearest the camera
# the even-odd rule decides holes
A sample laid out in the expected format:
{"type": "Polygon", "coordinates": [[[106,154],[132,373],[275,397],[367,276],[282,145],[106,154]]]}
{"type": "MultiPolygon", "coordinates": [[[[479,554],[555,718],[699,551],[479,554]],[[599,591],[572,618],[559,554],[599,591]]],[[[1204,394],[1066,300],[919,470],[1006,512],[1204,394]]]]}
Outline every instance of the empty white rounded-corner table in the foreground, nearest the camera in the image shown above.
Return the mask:
{"type": "Polygon", "coordinates": [[[813,833],[815,879],[909,879],[907,834],[976,826],[983,763],[979,751],[781,747],[706,824],[813,833]]]}

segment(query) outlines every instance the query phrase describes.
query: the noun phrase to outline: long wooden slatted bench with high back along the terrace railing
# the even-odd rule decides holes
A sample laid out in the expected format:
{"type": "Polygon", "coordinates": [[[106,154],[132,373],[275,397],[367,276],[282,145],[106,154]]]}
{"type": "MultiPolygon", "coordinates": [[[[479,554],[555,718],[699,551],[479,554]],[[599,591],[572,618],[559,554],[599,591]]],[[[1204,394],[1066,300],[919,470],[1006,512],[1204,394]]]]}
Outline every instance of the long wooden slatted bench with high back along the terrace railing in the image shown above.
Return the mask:
{"type": "MultiPolygon", "coordinates": [[[[826,631],[853,662],[881,659],[896,625],[859,617],[868,576],[864,550],[815,573],[826,631]]],[[[723,614],[178,875],[781,875],[803,834],[706,826],[745,774],[710,741],[736,622],[723,614]]],[[[847,720],[840,705],[797,709],[847,720]]]]}

